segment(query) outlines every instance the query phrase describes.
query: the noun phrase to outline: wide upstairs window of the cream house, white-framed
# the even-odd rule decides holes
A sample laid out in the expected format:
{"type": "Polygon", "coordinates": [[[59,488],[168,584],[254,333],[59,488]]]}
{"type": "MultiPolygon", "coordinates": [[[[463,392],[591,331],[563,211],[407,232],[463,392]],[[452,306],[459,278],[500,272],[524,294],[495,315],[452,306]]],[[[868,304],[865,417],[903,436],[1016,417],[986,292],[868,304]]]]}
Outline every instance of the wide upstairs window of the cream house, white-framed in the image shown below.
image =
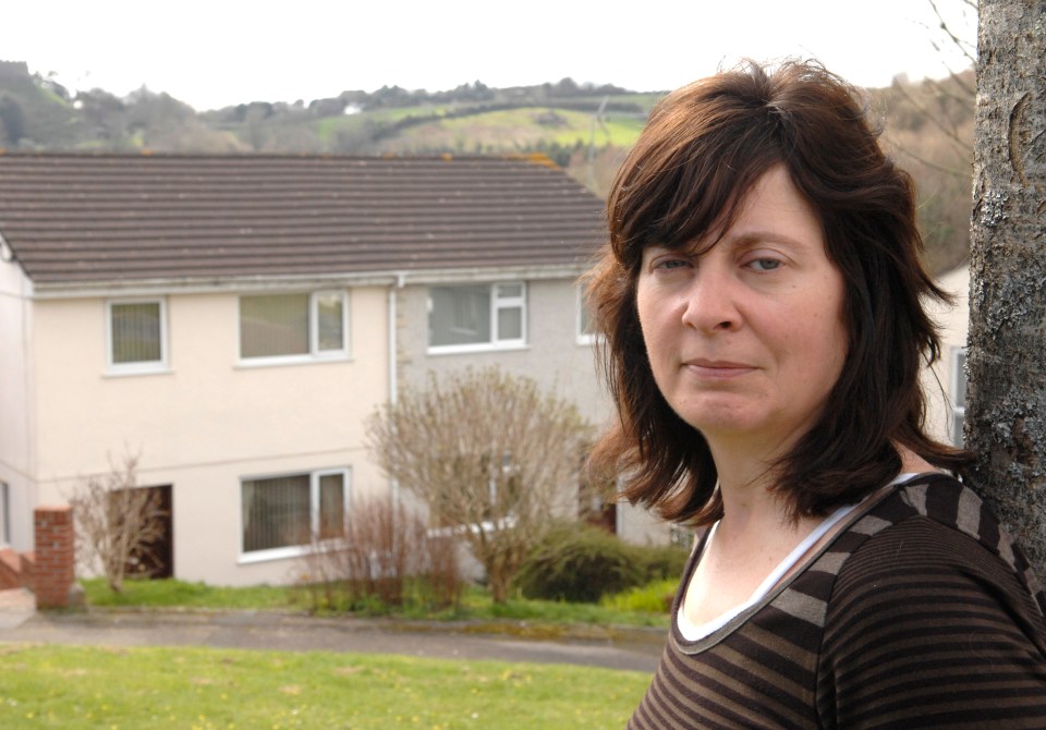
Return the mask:
{"type": "Polygon", "coordinates": [[[240,297],[240,357],[304,360],[349,352],[344,292],[240,297]]]}

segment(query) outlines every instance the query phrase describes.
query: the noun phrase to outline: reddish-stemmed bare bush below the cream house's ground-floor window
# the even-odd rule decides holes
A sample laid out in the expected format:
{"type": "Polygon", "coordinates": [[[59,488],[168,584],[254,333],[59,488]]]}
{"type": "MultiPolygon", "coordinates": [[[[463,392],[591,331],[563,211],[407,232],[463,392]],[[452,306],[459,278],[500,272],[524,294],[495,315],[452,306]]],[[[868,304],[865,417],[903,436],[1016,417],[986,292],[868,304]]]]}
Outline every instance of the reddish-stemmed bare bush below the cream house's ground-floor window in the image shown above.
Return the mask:
{"type": "Polygon", "coordinates": [[[344,534],[314,539],[299,580],[314,610],[354,608],[377,599],[384,607],[409,598],[429,608],[461,597],[454,547],[429,533],[425,520],[390,497],[353,500],[344,534]]]}

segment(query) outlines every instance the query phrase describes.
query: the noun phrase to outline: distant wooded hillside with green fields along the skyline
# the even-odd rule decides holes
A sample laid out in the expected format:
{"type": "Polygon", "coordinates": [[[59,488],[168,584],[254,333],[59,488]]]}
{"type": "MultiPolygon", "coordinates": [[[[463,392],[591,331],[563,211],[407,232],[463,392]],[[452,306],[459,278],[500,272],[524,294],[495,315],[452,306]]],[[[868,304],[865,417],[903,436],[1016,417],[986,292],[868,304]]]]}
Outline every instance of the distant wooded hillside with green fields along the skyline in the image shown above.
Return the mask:
{"type": "MultiPolygon", "coordinates": [[[[897,81],[869,92],[891,154],[920,190],[921,226],[935,270],[969,248],[973,73],[942,82],[897,81]]],[[[386,86],[308,104],[256,101],[196,113],[162,93],[119,98],[71,94],[0,62],[0,147],[170,153],[511,155],[540,153],[605,196],[613,173],[664,93],[570,78],[538,86],[450,92],[386,86]]]]}

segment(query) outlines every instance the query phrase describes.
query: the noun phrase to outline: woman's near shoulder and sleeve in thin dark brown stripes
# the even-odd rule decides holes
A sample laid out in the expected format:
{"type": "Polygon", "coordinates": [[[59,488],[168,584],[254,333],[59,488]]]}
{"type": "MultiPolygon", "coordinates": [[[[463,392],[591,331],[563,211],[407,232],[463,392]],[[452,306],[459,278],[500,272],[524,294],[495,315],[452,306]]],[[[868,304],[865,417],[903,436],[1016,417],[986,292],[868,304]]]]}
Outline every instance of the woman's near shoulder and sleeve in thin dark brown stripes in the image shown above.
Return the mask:
{"type": "Polygon", "coordinates": [[[825,717],[858,727],[888,707],[898,727],[1046,727],[1046,601],[972,490],[910,479],[844,538],[822,637],[825,717]]]}

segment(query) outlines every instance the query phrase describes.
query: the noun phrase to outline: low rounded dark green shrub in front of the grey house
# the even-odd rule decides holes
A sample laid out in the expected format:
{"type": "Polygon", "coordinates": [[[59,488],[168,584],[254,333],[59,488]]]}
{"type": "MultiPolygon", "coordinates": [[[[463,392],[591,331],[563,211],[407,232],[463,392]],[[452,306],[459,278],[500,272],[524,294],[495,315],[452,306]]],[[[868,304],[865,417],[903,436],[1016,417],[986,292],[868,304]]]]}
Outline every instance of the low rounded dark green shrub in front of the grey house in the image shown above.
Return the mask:
{"type": "Polygon", "coordinates": [[[549,530],[523,562],[516,585],[526,598],[595,603],[643,583],[635,548],[583,523],[549,530]]]}

